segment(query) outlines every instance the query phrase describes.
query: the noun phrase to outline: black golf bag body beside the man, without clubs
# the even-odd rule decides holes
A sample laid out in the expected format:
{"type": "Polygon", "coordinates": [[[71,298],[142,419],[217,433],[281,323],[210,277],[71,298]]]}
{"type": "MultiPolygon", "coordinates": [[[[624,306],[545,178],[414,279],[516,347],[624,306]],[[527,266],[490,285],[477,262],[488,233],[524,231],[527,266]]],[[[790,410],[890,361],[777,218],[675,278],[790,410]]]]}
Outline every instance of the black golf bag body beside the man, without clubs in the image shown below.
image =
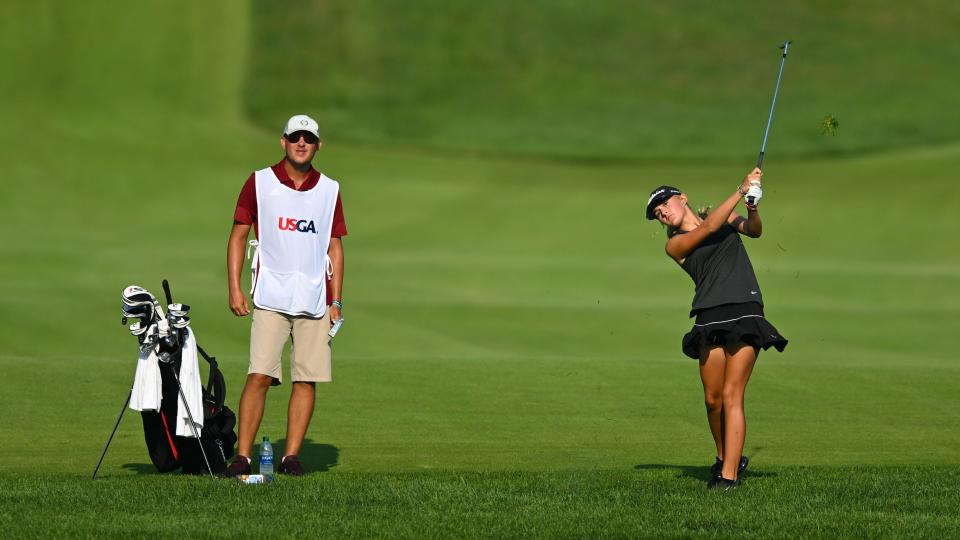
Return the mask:
{"type": "MultiPolygon", "coordinates": [[[[209,356],[202,348],[198,347],[197,350],[209,366],[207,386],[203,389],[203,429],[200,431],[200,444],[203,445],[210,468],[213,469],[210,472],[219,473],[226,469],[228,460],[233,457],[234,445],[237,442],[234,432],[237,417],[224,405],[227,389],[217,359],[209,356]]],[[[180,400],[174,373],[180,371],[181,353],[182,349],[177,350],[168,364],[160,366],[163,399],[159,411],[140,412],[143,436],[150,452],[150,460],[158,471],[181,469],[187,474],[206,474],[207,467],[197,440],[193,437],[178,436],[174,428],[180,400]]],[[[199,416],[200,412],[194,411],[194,414],[199,416]]]]}

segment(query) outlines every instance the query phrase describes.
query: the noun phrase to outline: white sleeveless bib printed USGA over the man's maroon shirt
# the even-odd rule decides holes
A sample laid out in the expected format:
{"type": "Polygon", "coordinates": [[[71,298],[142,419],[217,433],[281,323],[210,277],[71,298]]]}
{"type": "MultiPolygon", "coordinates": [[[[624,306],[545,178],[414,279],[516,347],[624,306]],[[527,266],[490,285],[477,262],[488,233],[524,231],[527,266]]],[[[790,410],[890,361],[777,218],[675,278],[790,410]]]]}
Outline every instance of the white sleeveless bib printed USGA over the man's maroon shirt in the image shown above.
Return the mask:
{"type": "Polygon", "coordinates": [[[288,315],[327,311],[330,231],[340,185],[320,175],[296,191],[269,167],[256,173],[259,246],[254,257],[253,304],[288,315]]]}

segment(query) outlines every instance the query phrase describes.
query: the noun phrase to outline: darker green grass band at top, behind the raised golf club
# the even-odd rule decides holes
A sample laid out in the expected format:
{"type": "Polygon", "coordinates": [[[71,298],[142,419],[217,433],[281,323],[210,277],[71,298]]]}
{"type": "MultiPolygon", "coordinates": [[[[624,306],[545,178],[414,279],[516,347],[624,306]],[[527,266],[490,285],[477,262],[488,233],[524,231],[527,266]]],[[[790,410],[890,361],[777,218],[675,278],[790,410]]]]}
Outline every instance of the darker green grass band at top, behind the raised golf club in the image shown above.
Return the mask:
{"type": "Polygon", "coordinates": [[[253,1],[244,104],[276,132],[591,160],[842,155],[955,138],[957,6],[903,2],[253,1]],[[931,21],[936,21],[931,24],[931,21]],[[309,36],[307,38],[306,36],[309,36]],[[299,91],[298,91],[299,90],[299,91]],[[831,114],[835,139],[820,135],[831,114]]]}

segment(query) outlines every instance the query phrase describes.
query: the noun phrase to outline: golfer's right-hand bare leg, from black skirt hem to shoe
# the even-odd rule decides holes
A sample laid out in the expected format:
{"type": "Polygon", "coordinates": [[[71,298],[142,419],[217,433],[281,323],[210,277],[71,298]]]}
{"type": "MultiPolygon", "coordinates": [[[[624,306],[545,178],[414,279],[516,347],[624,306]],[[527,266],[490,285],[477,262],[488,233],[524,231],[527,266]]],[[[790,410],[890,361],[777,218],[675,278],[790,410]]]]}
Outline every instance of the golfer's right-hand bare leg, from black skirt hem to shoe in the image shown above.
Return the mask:
{"type": "Polygon", "coordinates": [[[726,351],[726,371],[723,379],[723,471],[729,480],[737,478],[743,442],[747,438],[747,418],[743,411],[743,396],[753,373],[757,353],[753,347],[740,344],[736,350],[726,351]]]}

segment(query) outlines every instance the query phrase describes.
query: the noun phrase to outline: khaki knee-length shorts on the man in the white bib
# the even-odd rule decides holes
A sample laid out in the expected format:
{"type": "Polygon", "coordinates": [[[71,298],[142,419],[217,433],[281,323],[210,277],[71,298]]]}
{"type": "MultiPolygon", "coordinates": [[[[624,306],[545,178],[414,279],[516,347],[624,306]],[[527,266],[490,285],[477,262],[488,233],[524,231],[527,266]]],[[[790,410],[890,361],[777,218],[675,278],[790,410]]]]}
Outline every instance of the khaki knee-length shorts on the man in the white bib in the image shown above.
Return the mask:
{"type": "Polygon", "coordinates": [[[254,308],[250,327],[250,369],[273,377],[280,384],[280,357],[287,339],[290,347],[290,378],[293,382],[330,382],[330,312],[320,319],[293,316],[254,308]]]}

